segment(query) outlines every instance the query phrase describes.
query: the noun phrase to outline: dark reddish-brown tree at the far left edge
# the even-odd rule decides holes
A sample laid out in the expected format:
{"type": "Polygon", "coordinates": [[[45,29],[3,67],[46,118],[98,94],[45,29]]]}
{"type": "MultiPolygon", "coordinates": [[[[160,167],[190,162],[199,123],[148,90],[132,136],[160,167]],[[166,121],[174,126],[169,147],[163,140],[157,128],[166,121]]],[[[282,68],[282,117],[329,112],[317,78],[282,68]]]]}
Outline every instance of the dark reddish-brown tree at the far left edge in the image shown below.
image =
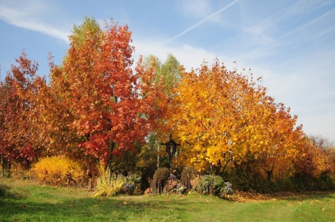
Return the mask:
{"type": "Polygon", "coordinates": [[[38,143],[39,127],[34,125],[36,116],[31,112],[36,101],[31,100],[38,93],[37,82],[43,78],[36,74],[38,63],[32,62],[24,52],[16,59],[1,84],[1,157],[9,163],[13,160],[29,163],[38,155],[41,144],[38,143]]]}

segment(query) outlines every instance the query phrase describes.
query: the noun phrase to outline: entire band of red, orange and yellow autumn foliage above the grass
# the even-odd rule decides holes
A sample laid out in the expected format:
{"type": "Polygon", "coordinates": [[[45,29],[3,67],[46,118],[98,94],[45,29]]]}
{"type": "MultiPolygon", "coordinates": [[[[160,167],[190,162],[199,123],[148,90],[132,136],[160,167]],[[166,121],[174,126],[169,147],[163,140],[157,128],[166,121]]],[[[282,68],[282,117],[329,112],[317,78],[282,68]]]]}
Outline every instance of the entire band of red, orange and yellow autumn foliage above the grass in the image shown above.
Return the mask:
{"type": "Polygon", "coordinates": [[[335,188],[334,145],[306,136],[297,116],[251,73],[228,71],[218,60],[186,72],[171,54],[163,64],[149,56],[134,65],[131,31],[113,21],[102,29],[86,17],[69,40],[61,64],[50,56],[47,78],[23,52],[1,81],[2,173],[35,164],[40,180],[57,184],[50,172],[57,157],[68,157],[57,160],[76,173],[61,170],[61,184],[84,177],[100,195],[132,193],[134,184],[111,186],[113,174],[140,175],[143,190],[149,179],[167,180],[161,143],[171,133],[181,144],[173,173],[194,180],[201,193],[228,192],[223,179],[241,190],[335,188]]]}

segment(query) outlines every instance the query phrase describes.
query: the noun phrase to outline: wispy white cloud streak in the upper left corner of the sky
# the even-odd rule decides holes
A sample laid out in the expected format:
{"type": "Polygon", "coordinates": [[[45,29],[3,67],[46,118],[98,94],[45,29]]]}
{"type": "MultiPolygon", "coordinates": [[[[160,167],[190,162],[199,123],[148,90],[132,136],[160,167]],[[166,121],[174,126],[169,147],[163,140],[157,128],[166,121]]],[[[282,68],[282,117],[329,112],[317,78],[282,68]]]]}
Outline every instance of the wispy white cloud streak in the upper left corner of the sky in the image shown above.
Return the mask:
{"type": "Polygon", "coordinates": [[[38,17],[38,15],[43,13],[45,8],[46,6],[42,1],[34,1],[27,4],[18,2],[15,6],[0,3],[0,19],[8,24],[37,31],[68,42],[69,31],[47,24],[43,22],[41,17],[38,17]]]}

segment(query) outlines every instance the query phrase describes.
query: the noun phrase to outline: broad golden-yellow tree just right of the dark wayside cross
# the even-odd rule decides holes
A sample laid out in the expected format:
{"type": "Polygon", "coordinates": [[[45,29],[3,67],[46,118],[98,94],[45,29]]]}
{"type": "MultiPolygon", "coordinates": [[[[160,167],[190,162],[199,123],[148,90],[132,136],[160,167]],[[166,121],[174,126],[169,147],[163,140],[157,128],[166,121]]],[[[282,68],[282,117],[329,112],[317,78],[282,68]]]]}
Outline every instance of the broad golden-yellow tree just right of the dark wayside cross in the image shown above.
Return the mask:
{"type": "Polygon", "coordinates": [[[218,61],[211,68],[204,63],[182,72],[177,91],[174,102],[179,105],[172,121],[182,142],[181,162],[219,173],[262,157],[263,168],[273,170],[274,159],[280,160],[287,148],[283,135],[292,131],[295,118],[285,116],[252,75],[229,72],[218,61]]]}

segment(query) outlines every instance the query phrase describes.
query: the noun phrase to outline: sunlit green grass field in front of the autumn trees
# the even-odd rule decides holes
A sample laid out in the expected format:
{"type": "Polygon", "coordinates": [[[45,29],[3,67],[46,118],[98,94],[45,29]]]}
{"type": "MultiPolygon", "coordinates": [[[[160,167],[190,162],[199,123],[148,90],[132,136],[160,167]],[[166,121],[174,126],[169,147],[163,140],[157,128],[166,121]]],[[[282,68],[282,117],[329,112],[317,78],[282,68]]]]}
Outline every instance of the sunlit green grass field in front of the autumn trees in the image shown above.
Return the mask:
{"type": "Polygon", "coordinates": [[[0,221],[335,221],[335,193],[222,200],[212,196],[91,198],[0,178],[0,221]]]}

